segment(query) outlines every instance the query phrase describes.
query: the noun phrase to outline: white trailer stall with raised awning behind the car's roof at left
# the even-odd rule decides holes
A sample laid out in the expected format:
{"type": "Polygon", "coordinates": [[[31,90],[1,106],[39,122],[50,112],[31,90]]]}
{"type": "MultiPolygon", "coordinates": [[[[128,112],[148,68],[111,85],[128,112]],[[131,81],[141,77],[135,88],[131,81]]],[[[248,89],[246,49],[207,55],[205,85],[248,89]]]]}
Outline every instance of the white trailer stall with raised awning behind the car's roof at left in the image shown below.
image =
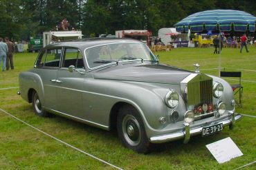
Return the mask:
{"type": "Polygon", "coordinates": [[[43,33],[43,47],[48,44],[71,40],[82,39],[82,31],[50,31],[43,33]]]}

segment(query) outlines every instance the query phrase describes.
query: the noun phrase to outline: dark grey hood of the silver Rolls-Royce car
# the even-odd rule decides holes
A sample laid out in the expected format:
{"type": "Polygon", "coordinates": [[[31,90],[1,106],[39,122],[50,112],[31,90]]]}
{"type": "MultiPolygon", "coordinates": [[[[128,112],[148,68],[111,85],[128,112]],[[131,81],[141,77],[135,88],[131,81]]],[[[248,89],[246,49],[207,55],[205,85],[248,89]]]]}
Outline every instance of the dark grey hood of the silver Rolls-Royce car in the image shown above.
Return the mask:
{"type": "Polygon", "coordinates": [[[192,72],[161,64],[122,64],[96,71],[97,79],[179,84],[192,72]]]}

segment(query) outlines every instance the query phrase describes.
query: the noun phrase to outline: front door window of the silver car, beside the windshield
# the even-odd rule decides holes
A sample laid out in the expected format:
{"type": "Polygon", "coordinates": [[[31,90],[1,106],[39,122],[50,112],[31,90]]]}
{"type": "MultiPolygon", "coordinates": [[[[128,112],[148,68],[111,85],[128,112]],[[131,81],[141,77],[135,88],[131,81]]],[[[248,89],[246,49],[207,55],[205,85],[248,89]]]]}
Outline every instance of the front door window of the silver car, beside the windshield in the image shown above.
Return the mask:
{"type": "Polygon", "coordinates": [[[84,68],[82,54],[78,49],[66,48],[64,50],[64,60],[62,61],[62,67],[67,68],[71,65],[74,65],[75,68],[84,68]]]}

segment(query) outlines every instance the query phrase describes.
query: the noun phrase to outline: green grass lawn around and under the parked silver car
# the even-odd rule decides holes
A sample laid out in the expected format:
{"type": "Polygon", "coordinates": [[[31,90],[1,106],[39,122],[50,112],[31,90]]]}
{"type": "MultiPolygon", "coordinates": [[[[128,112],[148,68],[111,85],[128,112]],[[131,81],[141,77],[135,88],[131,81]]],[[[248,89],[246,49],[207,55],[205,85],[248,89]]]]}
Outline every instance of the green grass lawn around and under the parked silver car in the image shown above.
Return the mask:
{"type": "MultiPolygon", "coordinates": [[[[250,52],[223,48],[221,67],[226,71],[241,71],[244,86],[243,107],[237,112],[256,116],[256,47],[250,52]],[[249,82],[250,81],[250,82],[249,82]]],[[[161,63],[218,75],[219,54],[213,48],[178,48],[156,52],[161,63]],[[207,70],[212,69],[212,70],[207,70]]],[[[256,160],[256,118],[246,117],[230,131],[227,127],[219,134],[193,137],[187,145],[182,140],[154,145],[151,153],[138,154],[122,147],[116,132],[89,127],[60,116],[35,116],[33,107],[17,96],[19,72],[33,67],[37,54],[15,54],[15,70],[0,72],[0,108],[26,123],[82,149],[93,156],[122,169],[235,169],[256,160]],[[219,164],[205,145],[230,137],[244,156],[219,164]]],[[[227,80],[230,83],[235,81],[227,80]]],[[[0,111],[0,169],[113,169],[109,165],[84,155],[39,131],[20,123],[0,111]]],[[[256,164],[246,167],[256,169],[256,164]]]]}

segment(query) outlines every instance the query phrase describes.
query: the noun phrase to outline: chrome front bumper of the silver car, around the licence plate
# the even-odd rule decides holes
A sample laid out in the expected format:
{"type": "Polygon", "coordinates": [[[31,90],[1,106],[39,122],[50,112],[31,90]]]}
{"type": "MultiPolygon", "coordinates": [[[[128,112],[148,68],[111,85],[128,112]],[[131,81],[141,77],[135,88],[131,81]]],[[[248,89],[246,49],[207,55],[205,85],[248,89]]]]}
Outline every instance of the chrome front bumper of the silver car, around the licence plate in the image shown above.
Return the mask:
{"type": "MultiPolygon", "coordinates": [[[[233,125],[237,120],[240,120],[242,118],[241,114],[235,115],[234,112],[230,111],[231,118],[228,120],[223,120],[218,123],[222,123],[223,126],[229,125],[229,128],[232,129],[233,125]]],[[[169,142],[172,140],[179,140],[181,138],[184,139],[184,143],[188,143],[190,140],[190,136],[194,136],[196,134],[201,134],[203,127],[196,127],[195,129],[190,129],[190,124],[184,123],[184,129],[183,131],[174,132],[172,134],[165,134],[161,136],[153,136],[149,140],[152,143],[163,143],[163,142],[169,142]]]]}

